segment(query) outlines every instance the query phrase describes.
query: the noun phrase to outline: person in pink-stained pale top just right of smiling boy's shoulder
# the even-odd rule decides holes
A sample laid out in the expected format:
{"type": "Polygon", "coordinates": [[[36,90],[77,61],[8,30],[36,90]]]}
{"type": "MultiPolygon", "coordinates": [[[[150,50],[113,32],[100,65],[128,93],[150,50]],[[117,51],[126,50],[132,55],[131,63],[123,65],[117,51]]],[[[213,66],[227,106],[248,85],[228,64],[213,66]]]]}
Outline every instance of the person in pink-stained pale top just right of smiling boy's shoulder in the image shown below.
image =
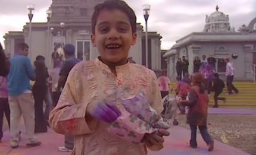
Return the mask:
{"type": "Polygon", "coordinates": [[[161,97],[162,99],[164,98],[164,96],[167,96],[167,94],[169,93],[169,84],[170,84],[170,78],[168,78],[166,76],[166,72],[162,71],[161,72],[161,77],[158,78],[158,84],[160,87],[160,91],[161,91],[161,97]]]}

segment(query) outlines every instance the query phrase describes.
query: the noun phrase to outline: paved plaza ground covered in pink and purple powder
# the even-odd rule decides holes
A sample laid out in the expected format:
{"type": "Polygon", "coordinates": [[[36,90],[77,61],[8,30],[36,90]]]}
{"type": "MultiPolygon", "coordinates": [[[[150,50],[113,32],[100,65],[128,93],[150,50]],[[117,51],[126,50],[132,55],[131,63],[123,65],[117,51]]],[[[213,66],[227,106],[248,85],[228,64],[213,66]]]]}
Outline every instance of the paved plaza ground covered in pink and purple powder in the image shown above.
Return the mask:
{"type": "MultiPolygon", "coordinates": [[[[218,108],[213,109],[209,108],[209,113],[242,113],[242,114],[253,114],[256,113],[256,108],[218,108]]],[[[21,126],[21,132],[24,133],[24,126],[21,126]]],[[[71,153],[63,153],[57,150],[57,147],[63,145],[64,136],[60,134],[56,134],[51,129],[48,130],[47,133],[36,134],[36,137],[42,141],[42,145],[39,147],[26,147],[26,139],[24,135],[21,138],[20,147],[17,149],[11,149],[10,147],[10,132],[5,131],[4,137],[2,139],[2,143],[0,144],[0,154],[8,154],[8,155],[41,155],[41,154],[49,154],[49,155],[65,155],[71,153]]],[[[149,151],[149,155],[170,155],[170,154],[248,154],[241,150],[238,150],[235,147],[231,147],[229,145],[220,143],[215,140],[215,148],[212,152],[207,151],[207,145],[201,138],[201,135],[198,134],[198,148],[191,148],[188,145],[188,141],[190,138],[189,129],[183,128],[182,126],[172,126],[170,129],[170,137],[166,138],[164,143],[164,148],[161,151],[149,151]]]]}

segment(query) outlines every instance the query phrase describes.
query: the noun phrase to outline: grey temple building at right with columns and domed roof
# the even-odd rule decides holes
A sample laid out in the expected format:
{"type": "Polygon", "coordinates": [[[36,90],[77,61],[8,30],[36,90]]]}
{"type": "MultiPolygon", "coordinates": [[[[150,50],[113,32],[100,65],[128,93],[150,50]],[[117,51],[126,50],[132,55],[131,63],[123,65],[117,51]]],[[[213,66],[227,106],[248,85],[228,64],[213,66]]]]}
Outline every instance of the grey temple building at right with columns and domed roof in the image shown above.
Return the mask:
{"type": "Polygon", "coordinates": [[[229,16],[217,8],[213,14],[206,16],[202,32],[193,32],[182,37],[164,54],[168,77],[171,80],[176,79],[175,65],[178,58],[186,56],[189,61],[189,74],[193,74],[195,56],[202,59],[202,55],[208,57],[210,53],[217,59],[216,71],[221,78],[226,78],[224,58],[229,58],[235,67],[235,80],[253,81],[253,64],[256,64],[256,18],[248,26],[243,24],[235,31],[230,27],[229,16]]]}

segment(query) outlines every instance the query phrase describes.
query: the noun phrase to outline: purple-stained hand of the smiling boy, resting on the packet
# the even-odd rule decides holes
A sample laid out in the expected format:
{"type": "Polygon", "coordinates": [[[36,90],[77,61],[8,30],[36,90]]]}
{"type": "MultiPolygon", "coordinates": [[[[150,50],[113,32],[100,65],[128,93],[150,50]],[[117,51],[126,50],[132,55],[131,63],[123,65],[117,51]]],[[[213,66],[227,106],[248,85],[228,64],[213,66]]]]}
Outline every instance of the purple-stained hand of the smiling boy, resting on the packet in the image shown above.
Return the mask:
{"type": "Polygon", "coordinates": [[[115,103],[107,100],[89,104],[86,113],[89,113],[93,118],[107,123],[112,123],[121,116],[121,112],[118,107],[115,106],[115,103]]]}

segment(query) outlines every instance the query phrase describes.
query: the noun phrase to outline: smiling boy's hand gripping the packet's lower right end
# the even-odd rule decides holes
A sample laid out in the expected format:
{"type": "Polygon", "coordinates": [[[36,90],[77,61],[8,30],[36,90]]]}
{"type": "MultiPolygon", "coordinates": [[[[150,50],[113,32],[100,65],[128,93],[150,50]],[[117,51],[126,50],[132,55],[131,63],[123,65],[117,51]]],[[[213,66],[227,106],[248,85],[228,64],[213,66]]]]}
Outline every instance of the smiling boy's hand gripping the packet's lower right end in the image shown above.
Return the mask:
{"type": "Polygon", "coordinates": [[[166,129],[158,129],[157,132],[152,134],[145,134],[142,143],[145,143],[147,147],[152,147],[153,145],[159,145],[164,143],[163,136],[168,136],[170,133],[166,129]]]}

